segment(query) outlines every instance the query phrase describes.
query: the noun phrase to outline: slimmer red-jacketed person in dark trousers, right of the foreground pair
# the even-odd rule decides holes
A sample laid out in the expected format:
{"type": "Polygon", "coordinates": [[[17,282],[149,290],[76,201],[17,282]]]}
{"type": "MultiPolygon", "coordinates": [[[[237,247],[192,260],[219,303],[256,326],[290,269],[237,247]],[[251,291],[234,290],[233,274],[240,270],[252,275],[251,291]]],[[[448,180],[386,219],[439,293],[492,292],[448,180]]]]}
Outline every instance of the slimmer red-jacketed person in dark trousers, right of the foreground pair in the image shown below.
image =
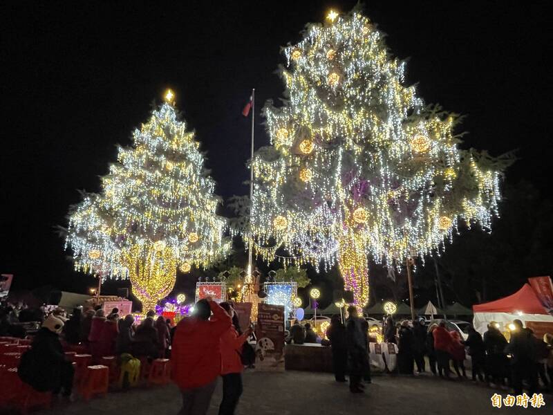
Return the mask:
{"type": "Polygon", "coordinates": [[[223,400],[219,407],[219,415],[234,415],[238,399],[243,391],[241,355],[244,342],[252,331],[247,329],[241,333],[238,316],[234,308],[225,302],[220,304],[232,318],[232,326],[221,336],[221,376],[223,377],[223,400]]]}

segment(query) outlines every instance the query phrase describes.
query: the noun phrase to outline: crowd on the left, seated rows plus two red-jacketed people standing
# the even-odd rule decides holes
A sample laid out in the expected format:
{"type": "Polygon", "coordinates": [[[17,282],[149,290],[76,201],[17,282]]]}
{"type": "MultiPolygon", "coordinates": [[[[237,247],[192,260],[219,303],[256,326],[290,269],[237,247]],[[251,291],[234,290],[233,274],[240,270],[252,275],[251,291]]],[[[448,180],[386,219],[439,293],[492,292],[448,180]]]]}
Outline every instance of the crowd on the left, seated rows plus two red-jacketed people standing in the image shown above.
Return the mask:
{"type": "MultiPolygon", "coordinates": [[[[1,310],[2,322],[14,317],[14,309],[10,305],[1,310]]],[[[13,334],[7,330],[12,324],[8,323],[2,325],[4,335],[13,334]]],[[[64,354],[64,343],[85,347],[94,363],[103,356],[125,353],[149,360],[170,357],[171,376],[182,394],[180,414],[205,414],[221,376],[219,414],[232,415],[243,391],[243,351],[251,333],[251,329],[241,331],[232,304],[211,299],[197,302],[193,315],[172,327],[170,320],[156,318],[153,311],[136,325],[133,315],[120,318],[117,308],[105,315],[100,307],[79,307],[69,316],[62,308],[53,308],[34,333],[30,349],[21,356],[18,374],[38,391],[73,400],[75,374],[64,354]]]]}

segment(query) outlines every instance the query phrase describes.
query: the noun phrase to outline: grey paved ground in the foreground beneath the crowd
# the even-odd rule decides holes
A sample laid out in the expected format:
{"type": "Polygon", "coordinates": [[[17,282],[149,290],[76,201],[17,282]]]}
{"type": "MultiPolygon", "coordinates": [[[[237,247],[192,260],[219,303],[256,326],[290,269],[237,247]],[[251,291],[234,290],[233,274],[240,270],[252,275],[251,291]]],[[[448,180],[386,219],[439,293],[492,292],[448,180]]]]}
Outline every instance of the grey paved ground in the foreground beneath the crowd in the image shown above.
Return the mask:
{"type": "MultiPolygon", "coordinates": [[[[352,395],[347,385],[334,382],[332,375],[287,371],[281,374],[248,371],[244,378],[244,394],[236,415],[480,415],[552,414],[553,399],[545,396],[541,409],[517,407],[494,409],[490,397],[507,391],[474,385],[470,381],[444,381],[432,376],[375,376],[366,393],[352,395]]],[[[209,415],[217,414],[221,400],[218,385],[209,415]]],[[[174,415],[180,403],[174,385],[149,389],[114,392],[89,403],[77,401],[54,407],[37,415],[174,415]]]]}

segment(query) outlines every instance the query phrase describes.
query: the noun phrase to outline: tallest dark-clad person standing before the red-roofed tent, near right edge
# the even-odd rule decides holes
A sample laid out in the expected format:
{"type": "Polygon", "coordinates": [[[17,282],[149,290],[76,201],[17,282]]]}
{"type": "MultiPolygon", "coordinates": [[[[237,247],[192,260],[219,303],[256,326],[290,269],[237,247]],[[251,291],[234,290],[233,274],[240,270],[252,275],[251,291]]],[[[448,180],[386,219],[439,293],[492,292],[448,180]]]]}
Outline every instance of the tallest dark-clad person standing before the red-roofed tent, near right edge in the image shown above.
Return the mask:
{"type": "Polygon", "coordinates": [[[514,320],[514,331],[511,332],[509,345],[505,352],[512,355],[511,368],[513,389],[516,395],[523,393],[523,380],[528,382],[528,393],[534,394],[538,387],[538,374],[536,372],[536,344],[534,335],[529,329],[523,327],[521,320],[514,320]]]}

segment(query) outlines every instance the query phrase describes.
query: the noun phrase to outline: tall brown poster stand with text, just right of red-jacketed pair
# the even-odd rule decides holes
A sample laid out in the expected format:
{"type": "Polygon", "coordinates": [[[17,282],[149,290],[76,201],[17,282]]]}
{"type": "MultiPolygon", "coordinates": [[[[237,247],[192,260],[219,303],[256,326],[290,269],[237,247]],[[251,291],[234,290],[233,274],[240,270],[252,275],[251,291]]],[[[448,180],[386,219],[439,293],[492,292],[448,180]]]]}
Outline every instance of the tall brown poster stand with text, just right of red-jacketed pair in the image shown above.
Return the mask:
{"type": "Polygon", "coordinates": [[[255,335],[256,370],[284,371],[284,306],[259,304],[255,335]]]}

